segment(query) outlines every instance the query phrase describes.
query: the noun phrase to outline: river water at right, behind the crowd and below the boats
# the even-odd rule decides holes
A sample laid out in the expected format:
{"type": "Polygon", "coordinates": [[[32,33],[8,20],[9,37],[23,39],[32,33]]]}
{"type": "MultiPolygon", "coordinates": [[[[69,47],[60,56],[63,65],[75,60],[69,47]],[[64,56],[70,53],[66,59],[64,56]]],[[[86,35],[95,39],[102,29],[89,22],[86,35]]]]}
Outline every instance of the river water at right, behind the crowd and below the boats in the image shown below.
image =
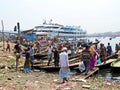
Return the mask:
{"type": "MultiPolygon", "coordinates": [[[[120,37],[112,38],[110,40],[110,37],[95,37],[95,38],[89,38],[91,41],[95,41],[95,39],[100,40],[100,43],[104,43],[105,46],[107,46],[108,42],[112,46],[113,52],[115,52],[115,44],[120,42],[120,37]]],[[[120,72],[119,73],[113,73],[111,68],[106,68],[99,70],[98,74],[96,74],[97,77],[104,78],[106,80],[117,80],[120,81],[120,72]]]]}

